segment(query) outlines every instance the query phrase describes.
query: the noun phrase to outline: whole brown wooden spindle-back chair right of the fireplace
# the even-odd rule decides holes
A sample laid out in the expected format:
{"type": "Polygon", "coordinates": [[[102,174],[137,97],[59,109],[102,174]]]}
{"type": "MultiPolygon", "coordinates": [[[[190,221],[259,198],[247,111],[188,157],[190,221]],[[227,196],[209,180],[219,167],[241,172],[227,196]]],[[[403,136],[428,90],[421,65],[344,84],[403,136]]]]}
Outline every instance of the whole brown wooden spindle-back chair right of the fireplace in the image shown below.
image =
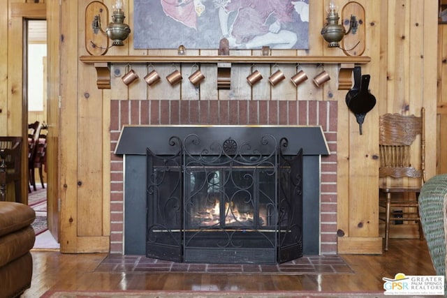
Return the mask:
{"type": "Polygon", "coordinates": [[[385,251],[388,251],[391,221],[417,221],[419,236],[423,239],[418,196],[425,183],[424,121],[424,108],[420,111],[420,117],[384,114],[379,118],[379,177],[386,178],[379,186],[383,194],[379,205],[385,209],[379,218],[385,221],[385,251]],[[417,153],[417,158],[412,159],[411,153],[417,153]],[[392,208],[395,208],[394,212],[392,208]],[[392,212],[395,216],[393,219],[392,212]]]}

